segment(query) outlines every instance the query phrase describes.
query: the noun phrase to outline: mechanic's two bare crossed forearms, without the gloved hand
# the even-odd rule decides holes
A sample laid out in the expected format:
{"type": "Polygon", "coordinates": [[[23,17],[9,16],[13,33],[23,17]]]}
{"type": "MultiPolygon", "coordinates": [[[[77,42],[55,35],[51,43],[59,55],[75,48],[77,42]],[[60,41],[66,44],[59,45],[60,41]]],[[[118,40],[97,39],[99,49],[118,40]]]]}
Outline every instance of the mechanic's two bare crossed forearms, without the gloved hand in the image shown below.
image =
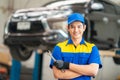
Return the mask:
{"type": "Polygon", "coordinates": [[[77,65],[70,63],[69,69],[64,72],[53,66],[53,74],[55,78],[59,79],[72,79],[82,75],[95,76],[97,75],[99,64],[92,63],[89,65],[77,65]]]}

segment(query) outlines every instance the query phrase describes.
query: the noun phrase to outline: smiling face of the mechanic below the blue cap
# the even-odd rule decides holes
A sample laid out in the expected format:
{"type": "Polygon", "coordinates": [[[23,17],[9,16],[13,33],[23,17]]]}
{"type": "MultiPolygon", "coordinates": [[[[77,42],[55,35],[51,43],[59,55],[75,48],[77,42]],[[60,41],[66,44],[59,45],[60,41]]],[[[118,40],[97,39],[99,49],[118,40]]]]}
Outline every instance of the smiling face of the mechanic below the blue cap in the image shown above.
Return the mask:
{"type": "Polygon", "coordinates": [[[68,31],[73,39],[82,38],[83,32],[85,31],[86,26],[79,21],[75,21],[68,26],[68,31]]]}

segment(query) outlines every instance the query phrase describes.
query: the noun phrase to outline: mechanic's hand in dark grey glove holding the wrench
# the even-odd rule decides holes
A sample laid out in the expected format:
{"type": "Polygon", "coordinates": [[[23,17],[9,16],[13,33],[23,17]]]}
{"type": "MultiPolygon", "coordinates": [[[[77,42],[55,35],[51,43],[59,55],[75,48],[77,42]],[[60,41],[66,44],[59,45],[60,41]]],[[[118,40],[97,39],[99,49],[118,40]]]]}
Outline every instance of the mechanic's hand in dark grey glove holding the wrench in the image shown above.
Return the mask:
{"type": "Polygon", "coordinates": [[[62,60],[57,60],[54,62],[54,66],[60,70],[62,69],[69,69],[69,63],[68,62],[64,62],[62,60]]]}

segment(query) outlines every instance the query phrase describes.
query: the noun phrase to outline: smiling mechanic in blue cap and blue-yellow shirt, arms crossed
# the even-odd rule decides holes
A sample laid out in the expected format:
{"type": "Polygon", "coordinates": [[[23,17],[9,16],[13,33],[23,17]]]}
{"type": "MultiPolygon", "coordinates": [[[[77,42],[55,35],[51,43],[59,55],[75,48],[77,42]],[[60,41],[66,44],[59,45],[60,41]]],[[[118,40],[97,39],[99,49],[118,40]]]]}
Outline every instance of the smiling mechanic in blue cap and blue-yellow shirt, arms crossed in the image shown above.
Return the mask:
{"type": "Polygon", "coordinates": [[[83,38],[85,19],[79,13],[68,16],[70,39],[58,43],[52,52],[50,67],[59,80],[91,80],[102,67],[99,51],[83,38]]]}

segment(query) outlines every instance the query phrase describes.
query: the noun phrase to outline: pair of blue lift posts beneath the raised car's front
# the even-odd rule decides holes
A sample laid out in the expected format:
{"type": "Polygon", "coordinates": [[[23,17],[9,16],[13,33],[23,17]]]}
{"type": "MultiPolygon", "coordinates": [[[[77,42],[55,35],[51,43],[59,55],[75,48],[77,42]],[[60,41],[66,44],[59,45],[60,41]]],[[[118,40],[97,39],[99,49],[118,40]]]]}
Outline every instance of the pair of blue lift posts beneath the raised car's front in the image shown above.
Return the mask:
{"type": "MultiPolygon", "coordinates": [[[[43,55],[38,54],[38,52],[35,51],[35,63],[32,73],[32,80],[42,80],[42,59],[43,55]]],[[[13,59],[10,71],[10,80],[20,80],[20,72],[21,62],[13,59]]]]}

